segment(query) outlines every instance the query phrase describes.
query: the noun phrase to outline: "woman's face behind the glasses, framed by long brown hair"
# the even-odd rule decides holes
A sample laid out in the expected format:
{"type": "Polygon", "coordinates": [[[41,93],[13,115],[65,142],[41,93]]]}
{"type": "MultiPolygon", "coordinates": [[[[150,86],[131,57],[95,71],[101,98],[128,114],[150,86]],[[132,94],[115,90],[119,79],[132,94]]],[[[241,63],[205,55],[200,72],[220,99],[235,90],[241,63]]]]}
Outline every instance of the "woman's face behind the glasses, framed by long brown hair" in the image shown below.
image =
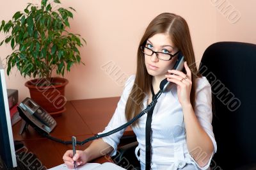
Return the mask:
{"type": "MultiPolygon", "coordinates": [[[[178,51],[167,33],[159,33],[148,38],[145,47],[156,52],[169,54],[175,54],[178,51]]],[[[163,77],[163,79],[165,78],[164,75],[168,73],[167,70],[171,70],[176,61],[177,55],[169,61],[158,59],[156,53],[152,56],[145,55],[145,65],[148,74],[156,77],[163,77]]]]}

